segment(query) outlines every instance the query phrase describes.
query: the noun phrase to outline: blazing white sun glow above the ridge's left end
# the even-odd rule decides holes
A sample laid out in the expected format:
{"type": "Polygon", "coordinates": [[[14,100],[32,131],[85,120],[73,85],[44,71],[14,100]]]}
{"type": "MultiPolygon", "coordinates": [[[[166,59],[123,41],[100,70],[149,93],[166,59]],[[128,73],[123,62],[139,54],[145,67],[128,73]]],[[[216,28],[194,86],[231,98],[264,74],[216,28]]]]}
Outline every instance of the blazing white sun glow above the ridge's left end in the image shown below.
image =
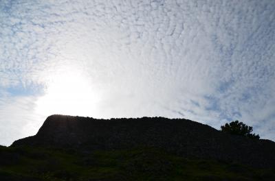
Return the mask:
{"type": "Polygon", "coordinates": [[[94,116],[98,101],[89,79],[80,71],[68,68],[52,75],[45,95],[36,102],[36,111],[46,117],[50,114],[94,116]]]}

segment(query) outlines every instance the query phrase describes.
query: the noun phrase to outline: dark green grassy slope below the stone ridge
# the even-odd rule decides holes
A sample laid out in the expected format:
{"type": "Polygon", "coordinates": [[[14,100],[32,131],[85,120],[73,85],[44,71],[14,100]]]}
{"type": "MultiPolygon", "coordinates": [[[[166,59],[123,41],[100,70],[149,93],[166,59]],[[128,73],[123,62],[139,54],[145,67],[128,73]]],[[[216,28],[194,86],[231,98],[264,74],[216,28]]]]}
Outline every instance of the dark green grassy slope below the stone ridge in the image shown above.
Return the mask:
{"type": "Polygon", "coordinates": [[[154,148],[80,153],[0,147],[0,180],[275,180],[275,170],[186,159],[154,148]]]}

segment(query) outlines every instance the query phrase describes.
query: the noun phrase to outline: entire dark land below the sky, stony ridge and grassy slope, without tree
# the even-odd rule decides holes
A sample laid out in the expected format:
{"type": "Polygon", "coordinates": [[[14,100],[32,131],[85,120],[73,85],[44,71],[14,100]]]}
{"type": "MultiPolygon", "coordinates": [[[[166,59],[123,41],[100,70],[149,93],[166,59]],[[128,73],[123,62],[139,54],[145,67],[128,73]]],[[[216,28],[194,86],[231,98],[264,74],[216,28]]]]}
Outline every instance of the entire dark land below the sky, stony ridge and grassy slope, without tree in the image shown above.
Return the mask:
{"type": "Polygon", "coordinates": [[[274,153],[186,119],[53,115],[0,147],[0,180],[275,180],[274,153]]]}

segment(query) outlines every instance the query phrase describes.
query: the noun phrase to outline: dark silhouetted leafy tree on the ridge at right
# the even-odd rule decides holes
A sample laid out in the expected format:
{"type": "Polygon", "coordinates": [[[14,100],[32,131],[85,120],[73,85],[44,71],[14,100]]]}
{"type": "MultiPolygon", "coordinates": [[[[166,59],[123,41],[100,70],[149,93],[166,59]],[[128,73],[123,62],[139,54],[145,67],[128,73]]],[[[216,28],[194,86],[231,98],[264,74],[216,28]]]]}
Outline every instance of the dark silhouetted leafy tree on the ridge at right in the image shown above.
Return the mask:
{"type": "Polygon", "coordinates": [[[231,123],[226,123],[225,125],[221,125],[221,132],[227,132],[230,134],[236,134],[245,136],[248,138],[259,139],[259,134],[252,134],[253,128],[251,126],[245,125],[243,122],[239,122],[238,120],[232,121],[231,123]]]}

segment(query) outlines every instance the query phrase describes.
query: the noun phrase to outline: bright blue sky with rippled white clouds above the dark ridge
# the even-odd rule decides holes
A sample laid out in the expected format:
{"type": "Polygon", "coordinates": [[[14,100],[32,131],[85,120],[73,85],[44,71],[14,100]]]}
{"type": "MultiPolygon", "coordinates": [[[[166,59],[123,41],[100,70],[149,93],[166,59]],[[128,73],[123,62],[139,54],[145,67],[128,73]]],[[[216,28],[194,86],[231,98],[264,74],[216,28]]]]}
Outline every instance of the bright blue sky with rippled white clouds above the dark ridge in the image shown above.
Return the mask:
{"type": "Polygon", "coordinates": [[[0,0],[0,145],[50,114],[238,119],[275,141],[275,1],[0,0]]]}

